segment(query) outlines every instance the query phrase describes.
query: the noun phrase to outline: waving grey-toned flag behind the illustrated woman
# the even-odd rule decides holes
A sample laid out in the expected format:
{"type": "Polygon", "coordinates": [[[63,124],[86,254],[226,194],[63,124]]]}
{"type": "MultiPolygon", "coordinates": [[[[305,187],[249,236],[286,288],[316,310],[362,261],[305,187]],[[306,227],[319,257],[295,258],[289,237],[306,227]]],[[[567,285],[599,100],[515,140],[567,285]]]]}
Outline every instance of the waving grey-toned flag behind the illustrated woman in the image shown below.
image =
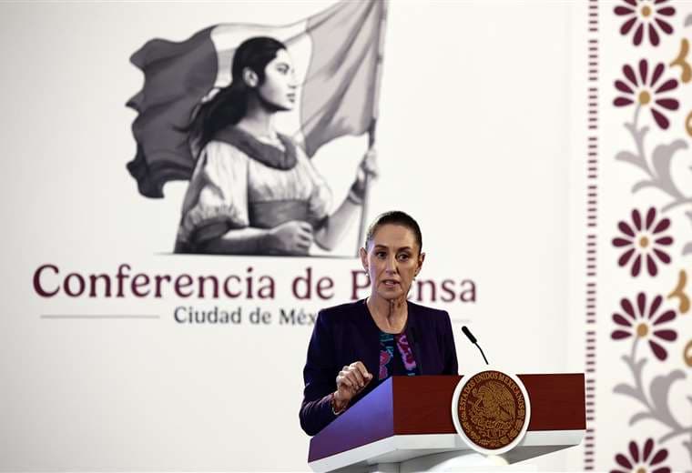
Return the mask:
{"type": "Polygon", "coordinates": [[[382,0],[347,0],[292,25],[217,25],[179,43],[148,41],[131,57],[145,80],[127,102],[137,111],[137,156],[127,169],[139,192],[162,197],[168,181],[191,176],[195,156],[184,128],[201,103],[229,85],[235,49],[252,36],[272,36],[288,47],[301,98],[280,114],[279,126],[308,156],[336,137],[372,133],[384,12],[382,0]]]}

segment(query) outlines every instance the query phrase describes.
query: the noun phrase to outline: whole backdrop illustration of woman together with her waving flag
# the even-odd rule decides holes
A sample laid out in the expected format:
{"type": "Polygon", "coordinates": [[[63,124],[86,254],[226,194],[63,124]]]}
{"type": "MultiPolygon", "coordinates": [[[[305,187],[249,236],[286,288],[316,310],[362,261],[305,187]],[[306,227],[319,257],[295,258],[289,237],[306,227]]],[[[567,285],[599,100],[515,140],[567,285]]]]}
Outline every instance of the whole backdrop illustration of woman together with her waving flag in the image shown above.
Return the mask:
{"type": "Polygon", "coordinates": [[[148,197],[163,197],[170,180],[190,181],[177,253],[305,255],[305,245],[296,251],[285,241],[295,234],[291,220],[306,222],[310,232],[299,237],[317,235],[314,242],[327,250],[339,243],[338,235],[320,238],[319,230],[341,234],[336,230],[354,217],[362,226],[363,212],[352,204],[365,204],[368,181],[356,180],[344,203],[331,205],[333,183],[304,155],[366,132],[374,146],[386,5],[337,2],[283,26],[214,25],[182,42],[151,39],[131,56],[144,85],[127,102],[137,111],[137,155],[127,169],[148,197]],[[286,49],[285,58],[255,65],[274,40],[286,49]],[[261,69],[260,111],[250,101],[249,66],[261,69]],[[265,114],[271,129],[251,129],[265,114]],[[268,134],[276,134],[278,144],[268,142],[268,134]],[[259,231],[269,236],[258,245],[259,231]],[[233,243],[224,244],[227,238],[233,243]],[[274,248],[275,239],[284,241],[274,248]]]}

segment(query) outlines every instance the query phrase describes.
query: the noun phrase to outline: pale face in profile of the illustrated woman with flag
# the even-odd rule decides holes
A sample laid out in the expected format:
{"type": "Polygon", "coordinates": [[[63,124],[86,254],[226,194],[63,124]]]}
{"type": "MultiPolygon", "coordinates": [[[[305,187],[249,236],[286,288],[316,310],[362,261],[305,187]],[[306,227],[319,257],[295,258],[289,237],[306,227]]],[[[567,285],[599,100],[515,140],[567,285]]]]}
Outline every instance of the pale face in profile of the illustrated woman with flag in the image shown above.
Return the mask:
{"type": "Polygon", "coordinates": [[[264,82],[258,87],[260,98],[277,110],[292,110],[297,98],[298,83],[293,62],[285,49],[264,69],[264,82]]]}

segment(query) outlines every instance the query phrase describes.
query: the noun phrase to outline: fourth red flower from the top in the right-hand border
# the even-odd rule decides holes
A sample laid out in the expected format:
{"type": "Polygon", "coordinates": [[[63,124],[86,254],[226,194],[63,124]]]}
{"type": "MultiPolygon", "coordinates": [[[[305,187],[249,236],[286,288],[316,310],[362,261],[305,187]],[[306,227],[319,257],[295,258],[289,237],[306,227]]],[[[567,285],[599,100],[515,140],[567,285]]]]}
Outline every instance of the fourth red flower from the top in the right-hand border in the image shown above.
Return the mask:
{"type": "Polygon", "coordinates": [[[628,299],[620,301],[620,307],[625,311],[625,316],[615,313],[613,321],[618,326],[610,337],[614,340],[622,340],[629,337],[648,338],[649,347],[656,358],[664,360],[668,357],[666,348],[662,347],[658,341],[665,340],[672,342],[677,339],[675,330],[660,329],[659,325],[670,322],[676,317],[674,310],[667,310],[660,316],[656,316],[656,311],[661,307],[663,297],[656,296],[651,302],[651,307],[646,310],[646,295],[640,292],[636,296],[636,310],[628,299]]]}

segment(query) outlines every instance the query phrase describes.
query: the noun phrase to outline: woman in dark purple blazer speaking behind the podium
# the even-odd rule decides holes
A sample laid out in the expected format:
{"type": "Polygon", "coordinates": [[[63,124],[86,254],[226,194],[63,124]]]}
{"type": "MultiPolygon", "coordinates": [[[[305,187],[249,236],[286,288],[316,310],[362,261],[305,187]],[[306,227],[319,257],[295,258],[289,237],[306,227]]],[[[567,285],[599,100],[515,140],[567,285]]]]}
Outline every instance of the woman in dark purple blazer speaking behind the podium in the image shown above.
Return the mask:
{"type": "Polygon", "coordinates": [[[418,223],[399,211],[378,216],[360,256],[370,296],[321,310],[312,331],[300,406],[308,435],[392,375],[458,374],[447,312],[406,298],[425,259],[418,223]]]}

